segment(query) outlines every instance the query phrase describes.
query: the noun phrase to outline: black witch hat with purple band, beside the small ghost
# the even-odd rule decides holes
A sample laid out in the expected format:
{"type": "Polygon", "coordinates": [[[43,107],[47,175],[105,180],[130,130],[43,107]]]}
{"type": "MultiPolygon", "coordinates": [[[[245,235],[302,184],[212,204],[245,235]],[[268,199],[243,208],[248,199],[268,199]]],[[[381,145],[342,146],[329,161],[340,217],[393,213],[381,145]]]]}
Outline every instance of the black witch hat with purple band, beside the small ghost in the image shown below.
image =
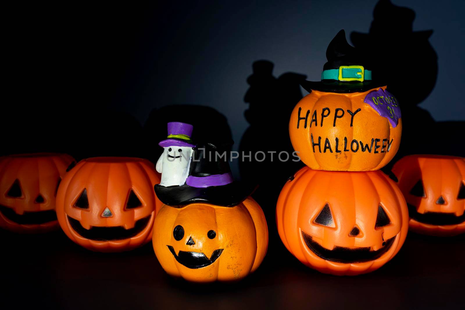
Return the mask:
{"type": "Polygon", "coordinates": [[[241,203],[250,194],[234,180],[226,156],[212,143],[194,148],[185,184],[157,184],[154,189],[161,202],[171,206],[202,202],[229,207],[241,203]]]}

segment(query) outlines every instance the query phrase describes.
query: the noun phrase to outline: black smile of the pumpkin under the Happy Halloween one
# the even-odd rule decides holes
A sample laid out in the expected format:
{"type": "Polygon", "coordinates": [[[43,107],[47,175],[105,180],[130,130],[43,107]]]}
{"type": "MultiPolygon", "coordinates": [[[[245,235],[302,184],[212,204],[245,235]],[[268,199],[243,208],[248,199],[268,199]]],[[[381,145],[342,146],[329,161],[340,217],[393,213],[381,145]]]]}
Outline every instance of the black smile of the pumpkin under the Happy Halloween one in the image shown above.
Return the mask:
{"type": "Polygon", "coordinates": [[[372,251],[371,246],[367,247],[360,247],[360,248],[346,248],[343,246],[335,246],[334,249],[328,250],[322,247],[318,242],[313,241],[312,236],[306,234],[302,231],[302,236],[304,237],[305,243],[307,244],[308,248],[312,250],[316,255],[319,257],[330,260],[332,262],[337,263],[363,263],[375,260],[381,257],[385,252],[387,252],[396,236],[392,237],[391,239],[386,240],[385,245],[378,251],[372,251]]]}

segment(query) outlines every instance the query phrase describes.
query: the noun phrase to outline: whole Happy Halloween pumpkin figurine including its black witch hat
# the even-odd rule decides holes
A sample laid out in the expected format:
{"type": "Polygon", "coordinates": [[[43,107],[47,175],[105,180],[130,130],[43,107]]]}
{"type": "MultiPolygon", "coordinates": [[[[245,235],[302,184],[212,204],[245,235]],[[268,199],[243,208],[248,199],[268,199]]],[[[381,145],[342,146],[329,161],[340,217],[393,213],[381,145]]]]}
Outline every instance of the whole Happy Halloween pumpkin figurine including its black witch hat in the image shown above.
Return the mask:
{"type": "Polygon", "coordinates": [[[347,43],[344,30],[329,44],[326,58],[321,81],[301,84],[310,94],[292,111],[292,146],[312,169],[378,170],[399,149],[399,103],[372,79],[370,65],[347,43]]]}

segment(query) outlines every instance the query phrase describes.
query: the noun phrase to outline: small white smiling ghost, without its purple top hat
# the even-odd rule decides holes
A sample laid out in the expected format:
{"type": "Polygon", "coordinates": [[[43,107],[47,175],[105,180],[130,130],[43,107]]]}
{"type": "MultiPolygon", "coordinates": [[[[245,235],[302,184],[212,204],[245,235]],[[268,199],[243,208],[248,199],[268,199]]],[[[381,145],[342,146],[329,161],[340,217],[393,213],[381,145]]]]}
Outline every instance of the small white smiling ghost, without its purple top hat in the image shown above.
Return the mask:
{"type": "Polygon", "coordinates": [[[183,185],[189,174],[193,148],[189,146],[164,147],[157,161],[162,186],[183,185]]]}

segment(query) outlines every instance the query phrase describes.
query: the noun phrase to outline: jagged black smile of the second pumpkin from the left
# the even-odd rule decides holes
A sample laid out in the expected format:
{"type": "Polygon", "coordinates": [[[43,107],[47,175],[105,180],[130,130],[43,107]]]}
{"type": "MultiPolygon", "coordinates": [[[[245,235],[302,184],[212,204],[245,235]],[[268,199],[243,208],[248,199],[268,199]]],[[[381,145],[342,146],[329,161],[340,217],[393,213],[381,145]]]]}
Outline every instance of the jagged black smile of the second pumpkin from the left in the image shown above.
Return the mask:
{"type": "Polygon", "coordinates": [[[82,227],[81,223],[74,218],[70,218],[69,215],[68,221],[73,230],[76,231],[80,236],[97,241],[112,241],[112,240],[121,240],[127,239],[136,236],[138,233],[146,228],[148,222],[152,215],[148,217],[141,218],[137,220],[133,228],[125,229],[123,226],[113,226],[113,227],[99,227],[92,226],[90,229],[85,229],[82,227]]]}

